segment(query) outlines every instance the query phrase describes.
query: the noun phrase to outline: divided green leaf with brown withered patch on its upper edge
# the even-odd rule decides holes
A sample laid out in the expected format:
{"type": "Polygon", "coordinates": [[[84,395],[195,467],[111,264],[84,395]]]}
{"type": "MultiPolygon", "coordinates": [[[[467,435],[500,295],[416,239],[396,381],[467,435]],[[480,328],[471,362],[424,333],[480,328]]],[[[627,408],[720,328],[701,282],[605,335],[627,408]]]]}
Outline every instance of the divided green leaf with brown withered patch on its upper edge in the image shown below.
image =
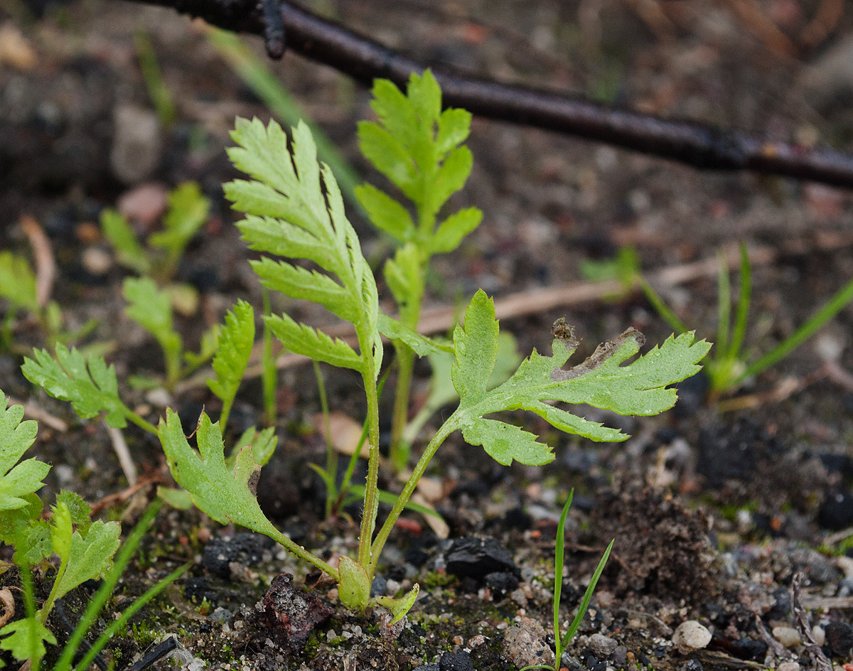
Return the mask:
{"type": "Polygon", "coordinates": [[[549,424],[595,441],[622,441],[621,431],[577,417],[549,402],[585,403],[618,414],[659,414],[676,402],[676,390],[668,385],[699,371],[697,363],[711,349],[693,333],[670,337],[634,362],[644,342],[642,334],[629,329],[615,342],[600,345],[592,356],[576,367],[563,365],[577,349],[571,327],[554,324],[553,356],[533,351],[507,382],[493,390],[487,384],[497,355],[495,306],[479,291],[468,306],[465,327],[456,327],[456,363],[453,384],[461,402],[455,425],[468,443],[482,445],[502,464],[518,460],[545,464],[554,459],[551,449],[538,443],[533,434],[485,415],[504,410],[529,410],[549,424]]]}

